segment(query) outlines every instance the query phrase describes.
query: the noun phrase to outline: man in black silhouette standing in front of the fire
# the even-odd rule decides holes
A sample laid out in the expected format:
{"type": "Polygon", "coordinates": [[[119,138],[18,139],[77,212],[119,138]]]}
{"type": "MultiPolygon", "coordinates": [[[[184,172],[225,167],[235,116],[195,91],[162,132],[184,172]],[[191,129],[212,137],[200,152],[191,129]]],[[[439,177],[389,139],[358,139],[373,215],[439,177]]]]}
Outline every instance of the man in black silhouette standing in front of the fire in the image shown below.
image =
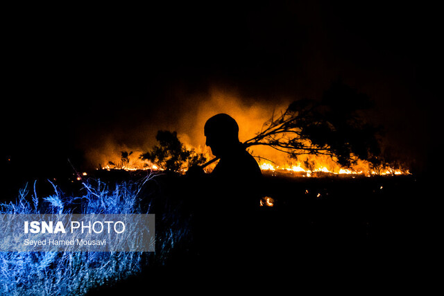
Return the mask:
{"type": "Polygon", "coordinates": [[[248,243],[253,242],[250,236],[259,208],[262,173],[239,142],[239,126],[231,116],[212,116],[204,132],[206,144],[219,157],[219,163],[210,175],[198,180],[196,242],[202,254],[218,258],[223,264],[233,263],[239,256],[244,258],[248,243]]]}

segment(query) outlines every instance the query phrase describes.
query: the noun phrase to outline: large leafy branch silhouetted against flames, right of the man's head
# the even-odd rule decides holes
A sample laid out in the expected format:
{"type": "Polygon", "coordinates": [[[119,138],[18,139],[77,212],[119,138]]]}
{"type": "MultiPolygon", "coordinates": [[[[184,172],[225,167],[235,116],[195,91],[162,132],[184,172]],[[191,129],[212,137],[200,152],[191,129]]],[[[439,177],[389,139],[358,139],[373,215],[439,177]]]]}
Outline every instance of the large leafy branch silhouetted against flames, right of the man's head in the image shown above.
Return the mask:
{"type": "Polygon", "coordinates": [[[366,123],[360,112],[373,107],[370,98],[356,89],[333,82],[321,101],[294,101],[285,112],[270,121],[246,147],[266,145],[298,155],[330,155],[341,166],[350,166],[357,158],[371,160],[379,155],[379,128],[366,123]]]}

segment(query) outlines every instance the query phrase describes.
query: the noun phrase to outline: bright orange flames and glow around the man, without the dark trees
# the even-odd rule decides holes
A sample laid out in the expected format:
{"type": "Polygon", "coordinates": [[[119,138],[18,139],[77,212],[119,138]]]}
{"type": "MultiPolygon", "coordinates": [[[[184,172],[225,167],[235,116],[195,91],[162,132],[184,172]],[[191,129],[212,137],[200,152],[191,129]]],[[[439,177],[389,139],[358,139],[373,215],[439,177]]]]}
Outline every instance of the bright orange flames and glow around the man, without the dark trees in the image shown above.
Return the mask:
{"type": "MultiPolygon", "coordinates": [[[[192,101],[192,100],[191,100],[192,101]]],[[[262,128],[262,125],[268,121],[273,110],[285,110],[285,108],[293,101],[290,98],[282,98],[279,103],[257,103],[253,98],[245,98],[241,100],[239,94],[230,92],[227,89],[210,89],[210,96],[203,99],[196,97],[196,101],[200,103],[190,105],[184,114],[180,115],[180,125],[175,125],[171,130],[178,132],[178,137],[187,148],[194,148],[198,153],[204,153],[207,160],[212,159],[210,148],[205,146],[205,136],[203,127],[205,121],[214,114],[227,113],[236,119],[239,124],[239,140],[246,141],[254,137],[262,128]],[[254,103],[253,103],[254,102],[254,103]]],[[[153,133],[153,127],[147,128],[146,136],[153,133]]],[[[154,137],[149,137],[153,141],[154,137]]],[[[109,161],[116,165],[101,166],[103,169],[123,169],[126,171],[135,170],[160,170],[155,164],[148,163],[139,159],[139,155],[146,153],[152,146],[153,142],[143,143],[140,146],[117,146],[117,143],[110,141],[109,145],[103,148],[95,148],[94,153],[89,156],[94,162],[102,162],[107,164],[109,161]],[[133,151],[128,162],[121,164],[120,151],[133,151]]],[[[108,142],[106,142],[108,143],[108,142]]],[[[355,164],[350,168],[339,166],[335,159],[326,155],[303,155],[297,159],[288,159],[286,153],[280,153],[268,146],[252,146],[249,148],[251,155],[255,157],[264,157],[271,159],[273,162],[263,162],[259,160],[259,166],[264,173],[271,172],[287,173],[287,175],[296,175],[302,177],[316,177],[319,175],[408,175],[407,169],[401,168],[379,168],[376,170],[369,162],[357,159],[355,164]]],[[[260,158],[263,159],[263,158],[260,158]]],[[[207,173],[212,171],[216,163],[205,168],[207,173]]],[[[236,168],[234,167],[233,170],[236,168]]],[[[185,173],[186,169],[180,173],[185,173]]]]}

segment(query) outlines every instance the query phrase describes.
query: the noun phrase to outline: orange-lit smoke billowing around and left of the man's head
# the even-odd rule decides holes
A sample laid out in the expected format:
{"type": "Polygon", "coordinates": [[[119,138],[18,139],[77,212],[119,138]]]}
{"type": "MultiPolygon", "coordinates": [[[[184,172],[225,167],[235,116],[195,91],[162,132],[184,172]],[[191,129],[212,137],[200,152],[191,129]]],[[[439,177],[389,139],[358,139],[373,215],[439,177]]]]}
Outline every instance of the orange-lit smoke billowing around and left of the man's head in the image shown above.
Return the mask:
{"type": "MultiPolygon", "coordinates": [[[[291,98],[267,101],[266,98],[245,97],[236,90],[219,86],[194,94],[176,92],[144,116],[126,113],[110,125],[92,128],[89,132],[93,136],[87,137],[81,148],[85,151],[88,168],[103,167],[109,162],[118,166],[122,151],[133,151],[128,157],[128,166],[142,168],[146,162],[142,162],[139,155],[153,148],[157,131],[171,130],[178,132],[178,138],[188,148],[212,157],[203,133],[205,122],[211,116],[219,113],[232,116],[239,125],[239,140],[246,141],[260,132],[273,112],[280,114],[290,102],[291,98]],[[178,96],[186,96],[186,99],[178,96]]],[[[250,152],[280,163],[286,157],[269,147],[255,147],[250,152]]]]}

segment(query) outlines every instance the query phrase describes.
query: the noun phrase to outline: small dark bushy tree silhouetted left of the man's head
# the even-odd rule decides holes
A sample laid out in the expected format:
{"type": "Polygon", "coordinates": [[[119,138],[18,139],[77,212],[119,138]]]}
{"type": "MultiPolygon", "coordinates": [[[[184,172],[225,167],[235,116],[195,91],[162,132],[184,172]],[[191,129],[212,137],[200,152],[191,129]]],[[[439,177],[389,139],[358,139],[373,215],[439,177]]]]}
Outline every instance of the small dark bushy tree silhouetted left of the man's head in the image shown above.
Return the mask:
{"type": "Polygon", "coordinates": [[[155,139],[159,142],[153,150],[140,156],[167,171],[180,171],[185,166],[203,164],[206,159],[203,153],[196,153],[194,149],[188,150],[178,137],[177,132],[159,130],[155,139]]]}

